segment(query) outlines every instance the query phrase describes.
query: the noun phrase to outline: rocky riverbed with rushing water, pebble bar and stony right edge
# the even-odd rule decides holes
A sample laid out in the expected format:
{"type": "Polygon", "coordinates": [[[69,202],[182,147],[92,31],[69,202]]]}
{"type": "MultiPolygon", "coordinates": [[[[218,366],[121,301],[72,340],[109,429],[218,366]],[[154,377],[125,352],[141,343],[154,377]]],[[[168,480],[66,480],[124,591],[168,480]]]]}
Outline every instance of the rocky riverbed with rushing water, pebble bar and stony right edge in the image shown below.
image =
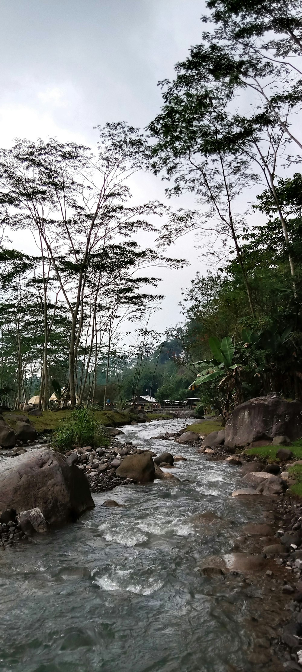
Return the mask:
{"type": "Polygon", "coordinates": [[[70,452],[96,504],[76,524],[11,548],[18,531],[6,523],[3,669],[111,672],[122,659],[144,672],[151,652],[164,672],[302,669],[301,503],[286,491],[232,497],[240,469],[263,466],[242,456],[238,468],[222,446],[202,453],[200,439],[179,445],[182,425],[129,426],[109,449],[70,452]],[[150,438],[158,429],[164,438],[150,438]],[[185,459],[160,467],[172,479],[117,476],[117,462],[144,450],[185,459]]]}

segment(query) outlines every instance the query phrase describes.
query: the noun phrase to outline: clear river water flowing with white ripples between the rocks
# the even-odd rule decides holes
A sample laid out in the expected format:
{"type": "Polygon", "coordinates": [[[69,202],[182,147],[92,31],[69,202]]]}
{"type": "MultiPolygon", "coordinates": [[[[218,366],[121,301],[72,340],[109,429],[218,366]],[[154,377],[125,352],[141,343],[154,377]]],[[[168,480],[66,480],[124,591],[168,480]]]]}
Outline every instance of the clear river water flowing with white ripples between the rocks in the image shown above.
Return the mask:
{"type": "Polygon", "coordinates": [[[74,525],[0,552],[1,671],[264,669],[254,628],[260,588],[232,575],[209,579],[198,564],[232,550],[242,526],[267,512],[230,498],[242,482],[237,468],[150,439],[184,424],[130,425],[121,437],[185,456],[171,470],[179,482],[93,495],[95,509],[74,525]],[[109,498],[125,506],[103,507],[109,498]]]}

